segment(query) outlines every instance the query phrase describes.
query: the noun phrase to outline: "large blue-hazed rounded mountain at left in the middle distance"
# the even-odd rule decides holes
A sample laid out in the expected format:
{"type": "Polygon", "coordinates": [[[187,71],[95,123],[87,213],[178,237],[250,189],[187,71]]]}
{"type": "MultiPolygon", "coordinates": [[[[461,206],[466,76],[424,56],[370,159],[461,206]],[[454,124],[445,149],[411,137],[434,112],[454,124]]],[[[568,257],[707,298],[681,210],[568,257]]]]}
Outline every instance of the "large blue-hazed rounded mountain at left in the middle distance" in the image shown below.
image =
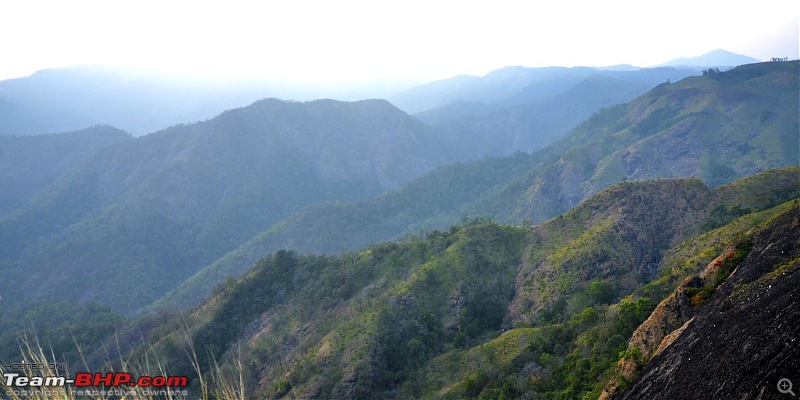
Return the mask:
{"type": "MultiPolygon", "coordinates": [[[[9,302],[66,296],[136,311],[307,206],[373,197],[448,161],[439,150],[386,101],[274,99],[90,147],[0,219],[0,290],[9,302]]],[[[71,157],[57,155],[54,165],[71,157]]],[[[4,173],[24,180],[24,167],[4,173]]]]}

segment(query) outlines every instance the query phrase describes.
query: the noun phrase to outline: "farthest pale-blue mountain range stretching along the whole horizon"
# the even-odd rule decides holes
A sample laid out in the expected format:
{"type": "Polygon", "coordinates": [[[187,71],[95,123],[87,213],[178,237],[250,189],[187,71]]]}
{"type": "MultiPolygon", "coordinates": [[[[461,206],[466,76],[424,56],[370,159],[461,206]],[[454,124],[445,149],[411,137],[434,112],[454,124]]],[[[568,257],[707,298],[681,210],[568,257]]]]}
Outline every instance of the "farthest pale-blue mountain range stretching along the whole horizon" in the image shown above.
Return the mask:
{"type": "MultiPolygon", "coordinates": [[[[520,132],[549,136],[565,134],[575,124],[602,107],[626,102],[653,86],[699,74],[701,66],[736,66],[758,62],[741,55],[716,50],[704,56],[673,60],[662,68],[642,69],[629,65],[598,68],[507,67],[483,77],[457,76],[412,86],[408,82],[351,82],[312,84],[255,79],[214,80],[167,76],[143,70],[109,66],[75,66],[43,70],[25,78],[0,81],[0,135],[30,135],[75,131],[92,125],[111,125],[134,135],[143,135],[179,123],[212,118],[225,109],[241,107],[265,97],[306,100],[332,97],[341,100],[387,97],[401,109],[430,111],[424,119],[451,118],[454,110],[472,110],[471,117],[491,129],[504,130],[505,139],[489,154],[508,148],[530,151],[537,143],[516,143],[520,132]],[[664,68],[664,67],[669,68],[664,68]],[[584,79],[608,78],[603,96],[557,104],[569,92],[579,93],[584,79]],[[403,90],[407,89],[407,90],[403,90]],[[552,98],[552,101],[550,99],[552,98]],[[470,103],[470,107],[459,104],[470,103]],[[511,107],[530,105],[533,115],[551,110],[570,110],[572,118],[552,116],[518,121],[525,113],[511,107]],[[570,109],[572,107],[572,109],[570,109]],[[441,110],[439,110],[441,108],[441,110]],[[508,115],[506,115],[508,114],[508,115]],[[505,123],[498,121],[508,121],[505,123]],[[547,126],[536,130],[546,122],[547,126]]],[[[585,84],[584,84],[585,85],[585,84]]],[[[457,113],[456,113],[457,114],[457,113]]],[[[467,122],[465,122],[467,123],[467,122]]],[[[474,133],[470,139],[476,139],[474,133]]],[[[481,146],[486,143],[481,143],[481,146]]],[[[546,144],[546,143],[545,143],[546,144]]],[[[507,153],[504,153],[507,154],[507,153]]]]}

